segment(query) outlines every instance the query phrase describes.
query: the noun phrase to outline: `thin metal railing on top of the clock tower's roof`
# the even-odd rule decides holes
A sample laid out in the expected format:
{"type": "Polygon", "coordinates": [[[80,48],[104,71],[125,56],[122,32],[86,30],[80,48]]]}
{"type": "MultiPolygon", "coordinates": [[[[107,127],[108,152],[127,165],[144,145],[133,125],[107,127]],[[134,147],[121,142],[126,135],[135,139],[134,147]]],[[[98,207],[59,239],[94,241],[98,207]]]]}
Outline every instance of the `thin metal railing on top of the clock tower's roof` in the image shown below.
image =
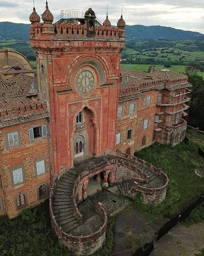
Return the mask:
{"type": "MultiPolygon", "coordinates": [[[[61,10],[60,15],[53,20],[53,24],[55,24],[56,22],[59,22],[59,20],[61,19],[84,19],[85,13],[86,13],[86,10],[78,10],[78,9],[61,10]]],[[[102,25],[102,22],[100,22],[99,19],[97,18],[97,13],[95,13],[95,15],[96,15],[96,21],[102,25]]]]}

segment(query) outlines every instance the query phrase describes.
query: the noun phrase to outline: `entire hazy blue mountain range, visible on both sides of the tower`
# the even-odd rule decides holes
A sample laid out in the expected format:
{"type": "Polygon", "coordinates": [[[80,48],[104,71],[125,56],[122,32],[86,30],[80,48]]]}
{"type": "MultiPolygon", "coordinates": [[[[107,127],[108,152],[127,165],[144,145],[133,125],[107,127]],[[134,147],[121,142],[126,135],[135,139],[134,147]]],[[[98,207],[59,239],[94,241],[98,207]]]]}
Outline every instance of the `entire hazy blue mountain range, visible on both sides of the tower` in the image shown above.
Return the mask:
{"type": "MultiPolygon", "coordinates": [[[[4,38],[4,27],[6,29],[6,36],[8,39],[29,40],[29,26],[30,24],[0,22],[0,38],[4,38]]],[[[204,35],[198,32],[184,31],[181,29],[173,29],[171,27],[163,26],[142,26],[133,25],[126,26],[127,39],[190,39],[199,38],[204,35]]]]}

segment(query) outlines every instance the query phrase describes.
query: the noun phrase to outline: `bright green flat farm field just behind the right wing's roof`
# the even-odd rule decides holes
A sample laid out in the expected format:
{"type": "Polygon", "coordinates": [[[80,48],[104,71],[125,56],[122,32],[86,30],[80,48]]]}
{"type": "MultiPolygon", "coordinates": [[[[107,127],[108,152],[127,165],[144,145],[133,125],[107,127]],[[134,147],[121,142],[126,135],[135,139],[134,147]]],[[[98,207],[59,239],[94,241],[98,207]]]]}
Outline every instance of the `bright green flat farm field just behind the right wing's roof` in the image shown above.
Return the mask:
{"type": "MultiPolygon", "coordinates": [[[[121,64],[122,69],[127,70],[134,70],[139,72],[147,72],[148,68],[151,65],[149,64],[121,64]]],[[[154,65],[158,69],[164,69],[165,67],[163,65],[154,65]]],[[[167,67],[166,69],[172,70],[176,73],[184,73],[185,72],[185,66],[179,66],[179,65],[172,65],[171,67],[167,67]]],[[[198,71],[197,74],[204,78],[204,72],[198,71]]]]}

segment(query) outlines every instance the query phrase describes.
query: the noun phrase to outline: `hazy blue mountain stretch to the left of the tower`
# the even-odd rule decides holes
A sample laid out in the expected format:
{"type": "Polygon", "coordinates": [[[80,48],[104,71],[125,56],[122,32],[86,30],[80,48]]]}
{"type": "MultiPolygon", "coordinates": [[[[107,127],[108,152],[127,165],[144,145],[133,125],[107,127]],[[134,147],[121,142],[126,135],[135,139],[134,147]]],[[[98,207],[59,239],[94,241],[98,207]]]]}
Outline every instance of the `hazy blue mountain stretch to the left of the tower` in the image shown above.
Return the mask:
{"type": "Polygon", "coordinates": [[[4,27],[6,30],[6,37],[8,39],[18,39],[23,41],[29,40],[29,26],[30,24],[0,22],[0,38],[5,38],[4,27]]]}

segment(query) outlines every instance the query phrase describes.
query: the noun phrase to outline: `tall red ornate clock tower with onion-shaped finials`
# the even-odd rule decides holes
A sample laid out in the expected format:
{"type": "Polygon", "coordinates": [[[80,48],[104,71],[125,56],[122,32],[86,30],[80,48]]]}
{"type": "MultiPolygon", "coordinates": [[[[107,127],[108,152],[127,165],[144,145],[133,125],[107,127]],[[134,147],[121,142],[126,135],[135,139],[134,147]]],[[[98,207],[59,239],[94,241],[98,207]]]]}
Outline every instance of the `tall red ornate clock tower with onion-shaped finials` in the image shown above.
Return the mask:
{"type": "MultiPolygon", "coordinates": [[[[37,13],[36,13],[37,14],[37,13]]],[[[66,10],[54,20],[46,3],[43,23],[31,14],[39,97],[46,101],[53,173],[115,150],[123,17],[111,27],[90,8],[66,10]],[[37,22],[36,22],[37,21],[37,22]]]]}

